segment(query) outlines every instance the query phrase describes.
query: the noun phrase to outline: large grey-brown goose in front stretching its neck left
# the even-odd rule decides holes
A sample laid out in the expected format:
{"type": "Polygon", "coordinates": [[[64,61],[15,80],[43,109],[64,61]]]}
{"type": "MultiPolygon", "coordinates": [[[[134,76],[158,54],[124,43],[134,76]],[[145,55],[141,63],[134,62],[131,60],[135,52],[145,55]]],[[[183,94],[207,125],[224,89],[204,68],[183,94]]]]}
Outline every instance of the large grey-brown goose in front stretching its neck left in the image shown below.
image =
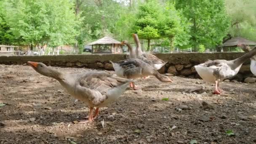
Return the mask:
{"type": "Polygon", "coordinates": [[[113,76],[107,72],[64,74],[43,63],[28,61],[27,64],[41,75],[58,80],[71,96],[89,106],[89,118],[84,121],[85,123],[93,122],[99,114],[99,108],[106,107],[120,97],[131,82],[129,79],[113,76]],[[94,107],[96,107],[96,112],[93,116],[94,107]]]}

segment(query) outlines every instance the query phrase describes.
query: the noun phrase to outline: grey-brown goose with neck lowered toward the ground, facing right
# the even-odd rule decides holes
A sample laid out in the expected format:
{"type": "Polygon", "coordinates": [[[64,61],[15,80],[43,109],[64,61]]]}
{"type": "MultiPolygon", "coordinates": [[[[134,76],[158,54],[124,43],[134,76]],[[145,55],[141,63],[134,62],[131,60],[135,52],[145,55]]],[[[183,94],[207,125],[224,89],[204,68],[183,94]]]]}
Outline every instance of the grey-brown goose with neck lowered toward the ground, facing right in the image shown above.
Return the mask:
{"type": "MultiPolygon", "coordinates": [[[[154,67],[142,61],[141,59],[126,59],[123,61],[118,61],[117,63],[114,63],[112,61],[110,62],[115,69],[116,75],[119,77],[136,79],[152,75],[161,82],[172,82],[169,77],[161,75],[159,72],[157,72],[156,69],[154,69],[154,67]]],[[[134,82],[130,83],[130,87],[134,90],[139,89],[135,86],[134,82]]]]}

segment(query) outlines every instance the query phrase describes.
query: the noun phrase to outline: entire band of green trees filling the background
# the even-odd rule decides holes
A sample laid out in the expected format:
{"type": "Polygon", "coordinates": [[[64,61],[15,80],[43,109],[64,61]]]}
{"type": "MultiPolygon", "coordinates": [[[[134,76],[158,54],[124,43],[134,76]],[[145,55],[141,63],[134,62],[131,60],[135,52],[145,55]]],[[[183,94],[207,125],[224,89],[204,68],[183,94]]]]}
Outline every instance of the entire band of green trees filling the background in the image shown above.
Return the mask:
{"type": "Polygon", "coordinates": [[[256,41],[255,7],[255,0],[0,0],[0,44],[69,44],[83,53],[103,36],[133,41],[137,33],[147,50],[153,41],[157,51],[203,52],[227,34],[256,41]]]}

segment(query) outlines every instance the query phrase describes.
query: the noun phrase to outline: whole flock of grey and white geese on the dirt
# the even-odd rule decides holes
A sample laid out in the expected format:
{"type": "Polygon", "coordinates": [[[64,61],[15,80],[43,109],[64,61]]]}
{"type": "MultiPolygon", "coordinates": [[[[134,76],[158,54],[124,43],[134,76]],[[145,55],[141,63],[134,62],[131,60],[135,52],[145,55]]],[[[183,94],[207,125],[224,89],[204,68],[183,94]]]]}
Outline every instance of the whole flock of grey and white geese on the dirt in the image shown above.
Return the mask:
{"type": "MultiPolygon", "coordinates": [[[[136,34],[133,34],[133,39],[137,45],[135,49],[128,41],[124,40],[122,42],[122,44],[128,46],[128,59],[117,63],[110,61],[116,75],[104,71],[64,74],[40,62],[28,61],[27,64],[41,75],[58,80],[71,96],[85,102],[90,109],[88,120],[80,121],[80,123],[92,123],[99,115],[99,108],[106,107],[112,101],[115,101],[122,95],[129,84],[131,88],[137,90],[138,87],[134,83],[137,78],[155,76],[161,82],[172,82],[168,76],[161,75],[157,71],[167,62],[158,59],[155,55],[141,51],[139,38],[136,34]],[[94,107],[96,110],[93,115],[94,107]]],[[[197,73],[203,80],[216,84],[215,94],[221,93],[219,82],[235,76],[247,59],[251,58],[251,70],[254,75],[256,74],[256,57],[254,57],[256,55],[256,47],[250,50],[246,45],[241,44],[238,46],[248,53],[232,61],[208,60],[195,66],[197,73]]]]}

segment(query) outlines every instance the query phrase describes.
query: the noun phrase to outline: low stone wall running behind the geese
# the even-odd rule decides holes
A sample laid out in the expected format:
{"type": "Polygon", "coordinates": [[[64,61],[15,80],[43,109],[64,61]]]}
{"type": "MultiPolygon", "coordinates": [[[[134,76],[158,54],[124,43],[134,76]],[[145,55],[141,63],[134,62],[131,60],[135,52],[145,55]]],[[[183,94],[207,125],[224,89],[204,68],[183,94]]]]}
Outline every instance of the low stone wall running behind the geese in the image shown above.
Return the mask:
{"type": "MultiPolygon", "coordinates": [[[[155,53],[157,57],[168,61],[162,67],[160,73],[171,73],[186,77],[196,77],[197,72],[193,66],[203,63],[208,59],[232,60],[244,53],[155,53]]],[[[125,54],[90,54],[90,55],[59,55],[59,56],[0,56],[0,64],[25,64],[27,61],[43,62],[46,65],[59,67],[88,67],[92,69],[112,70],[110,61],[119,61],[126,58],[125,54]]],[[[231,78],[243,81],[246,77],[252,77],[250,60],[241,67],[237,76],[231,78]]]]}

